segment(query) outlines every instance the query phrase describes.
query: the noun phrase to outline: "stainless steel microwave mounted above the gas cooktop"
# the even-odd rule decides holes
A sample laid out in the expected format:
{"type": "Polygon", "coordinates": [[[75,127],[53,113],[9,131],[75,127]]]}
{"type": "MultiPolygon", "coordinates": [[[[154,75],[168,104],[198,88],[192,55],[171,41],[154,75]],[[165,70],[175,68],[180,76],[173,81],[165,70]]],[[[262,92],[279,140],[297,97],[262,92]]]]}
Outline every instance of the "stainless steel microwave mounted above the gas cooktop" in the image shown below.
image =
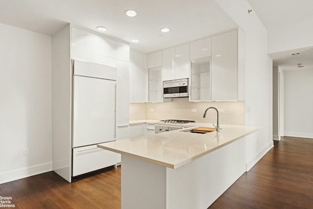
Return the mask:
{"type": "Polygon", "coordinates": [[[188,97],[189,79],[163,81],[163,98],[188,97]]]}

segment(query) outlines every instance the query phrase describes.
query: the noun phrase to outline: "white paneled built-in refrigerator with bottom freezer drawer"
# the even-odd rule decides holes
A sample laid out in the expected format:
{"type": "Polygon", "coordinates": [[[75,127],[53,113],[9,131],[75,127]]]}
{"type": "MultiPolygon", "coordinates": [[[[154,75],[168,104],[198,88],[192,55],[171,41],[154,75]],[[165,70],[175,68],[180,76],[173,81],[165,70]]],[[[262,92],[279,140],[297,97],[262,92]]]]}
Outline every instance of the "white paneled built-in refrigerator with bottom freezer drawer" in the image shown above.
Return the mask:
{"type": "Polygon", "coordinates": [[[116,165],[96,144],[115,140],[116,68],[73,60],[72,180],[116,165]]]}

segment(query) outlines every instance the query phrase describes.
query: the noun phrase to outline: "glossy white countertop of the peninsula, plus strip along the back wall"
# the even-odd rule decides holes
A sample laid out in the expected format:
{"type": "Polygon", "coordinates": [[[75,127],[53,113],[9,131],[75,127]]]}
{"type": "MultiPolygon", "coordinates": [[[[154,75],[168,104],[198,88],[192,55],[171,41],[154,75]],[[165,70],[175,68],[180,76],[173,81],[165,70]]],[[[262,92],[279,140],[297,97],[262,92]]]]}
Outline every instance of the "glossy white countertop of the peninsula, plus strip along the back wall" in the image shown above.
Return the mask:
{"type": "MultiPolygon", "coordinates": [[[[151,120],[150,122],[153,121],[156,122],[157,120],[151,120]]],[[[144,120],[144,122],[148,121],[144,120]]],[[[192,123],[192,125],[192,128],[213,128],[209,123],[192,123]]],[[[206,134],[196,134],[184,132],[184,130],[192,129],[184,128],[149,136],[101,143],[98,144],[98,147],[175,169],[259,129],[256,126],[245,125],[221,124],[220,126],[222,128],[220,133],[214,131],[206,134]]]]}

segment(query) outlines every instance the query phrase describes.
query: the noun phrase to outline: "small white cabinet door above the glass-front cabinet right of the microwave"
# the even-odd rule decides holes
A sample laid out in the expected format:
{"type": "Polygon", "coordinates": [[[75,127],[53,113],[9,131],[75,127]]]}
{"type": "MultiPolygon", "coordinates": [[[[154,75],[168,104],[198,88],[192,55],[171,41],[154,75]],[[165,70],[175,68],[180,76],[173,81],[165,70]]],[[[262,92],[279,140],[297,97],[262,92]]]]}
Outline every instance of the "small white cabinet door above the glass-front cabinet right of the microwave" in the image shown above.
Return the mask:
{"type": "Polygon", "coordinates": [[[211,37],[190,43],[190,60],[211,56],[211,37]]]}

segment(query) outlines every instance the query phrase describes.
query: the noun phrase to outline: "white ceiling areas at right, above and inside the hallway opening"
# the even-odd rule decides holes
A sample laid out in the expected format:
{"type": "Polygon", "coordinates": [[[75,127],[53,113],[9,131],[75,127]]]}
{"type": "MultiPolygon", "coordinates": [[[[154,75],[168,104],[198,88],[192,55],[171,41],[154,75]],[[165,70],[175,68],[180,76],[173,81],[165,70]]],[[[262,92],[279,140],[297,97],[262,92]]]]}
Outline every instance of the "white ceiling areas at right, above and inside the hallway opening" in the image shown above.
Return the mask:
{"type": "MultiPolygon", "coordinates": [[[[247,0],[267,30],[296,24],[313,16],[313,0],[247,0]]],[[[313,69],[313,47],[268,54],[283,70],[313,69]],[[300,53],[292,56],[292,53],[300,53]],[[298,68],[297,64],[303,64],[298,68]]]]}

